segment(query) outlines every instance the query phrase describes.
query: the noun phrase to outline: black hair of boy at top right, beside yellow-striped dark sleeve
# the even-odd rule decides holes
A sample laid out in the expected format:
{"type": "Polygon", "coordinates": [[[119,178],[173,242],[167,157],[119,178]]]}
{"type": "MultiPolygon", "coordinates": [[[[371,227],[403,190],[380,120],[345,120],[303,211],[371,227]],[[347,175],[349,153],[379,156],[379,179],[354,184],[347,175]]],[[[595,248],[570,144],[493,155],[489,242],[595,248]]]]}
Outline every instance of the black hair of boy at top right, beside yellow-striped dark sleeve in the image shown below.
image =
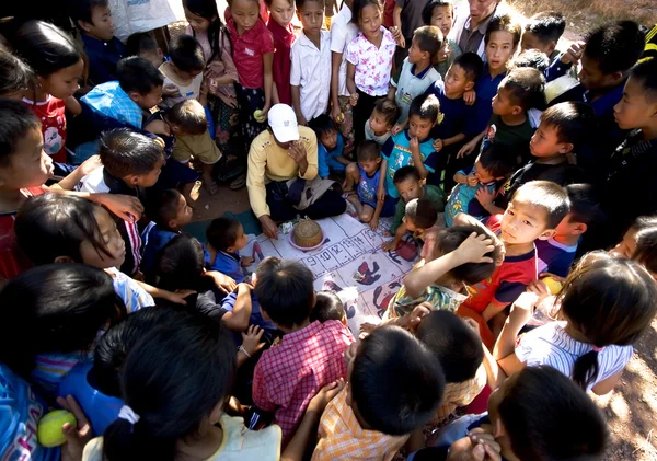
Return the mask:
{"type": "Polygon", "coordinates": [[[606,74],[626,72],[636,64],[645,46],[645,37],[634,21],[606,23],[586,37],[584,55],[598,62],[606,74]]]}

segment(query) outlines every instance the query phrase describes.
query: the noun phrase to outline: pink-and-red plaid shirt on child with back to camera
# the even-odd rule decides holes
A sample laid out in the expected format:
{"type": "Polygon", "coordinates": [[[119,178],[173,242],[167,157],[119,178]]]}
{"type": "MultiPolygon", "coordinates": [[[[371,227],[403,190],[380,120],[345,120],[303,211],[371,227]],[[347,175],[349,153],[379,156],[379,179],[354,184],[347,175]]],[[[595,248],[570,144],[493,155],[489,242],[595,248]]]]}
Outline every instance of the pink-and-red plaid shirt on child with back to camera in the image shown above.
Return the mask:
{"type": "Polygon", "coordinates": [[[347,369],[345,349],[354,342],[349,330],[336,320],[313,322],[263,353],[253,372],[253,403],[276,412],[284,446],[295,434],[310,400],[347,369]]]}

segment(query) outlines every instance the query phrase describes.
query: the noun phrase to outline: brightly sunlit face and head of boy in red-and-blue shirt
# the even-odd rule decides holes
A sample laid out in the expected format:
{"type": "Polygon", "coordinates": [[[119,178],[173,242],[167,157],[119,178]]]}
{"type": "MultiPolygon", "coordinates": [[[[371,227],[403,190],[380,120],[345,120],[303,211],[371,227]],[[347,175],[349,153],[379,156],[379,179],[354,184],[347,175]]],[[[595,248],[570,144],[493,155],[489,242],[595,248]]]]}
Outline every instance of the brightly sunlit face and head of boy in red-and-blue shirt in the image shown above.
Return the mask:
{"type": "Polygon", "coordinates": [[[566,189],[550,181],[531,181],[516,191],[502,218],[500,238],[508,244],[549,240],[568,214],[566,189]]]}

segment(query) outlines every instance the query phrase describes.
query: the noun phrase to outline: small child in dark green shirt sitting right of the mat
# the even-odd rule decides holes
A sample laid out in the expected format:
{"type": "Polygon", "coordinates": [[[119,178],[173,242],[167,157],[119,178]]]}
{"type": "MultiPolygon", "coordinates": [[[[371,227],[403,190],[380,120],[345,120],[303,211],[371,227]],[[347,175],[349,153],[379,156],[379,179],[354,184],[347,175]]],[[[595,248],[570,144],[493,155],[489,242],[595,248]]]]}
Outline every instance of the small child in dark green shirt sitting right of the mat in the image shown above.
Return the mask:
{"type": "MultiPolygon", "coordinates": [[[[397,195],[401,196],[401,200],[397,200],[396,210],[392,226],[390,226],[390,233],[394,235],[394,239],[383,244],[384,251],[394,251],[402,241],[402,237],[408,230],[404,222],[404,216],[406,215],[406,204],[411,200],[426,199],[434,204],[436,212],[445,209],[446,196],[445,192],[440,187],[431,184],[425,184],[420,178],[419,172],[415,166],[402,166],[394,173],[393,178],[394,185],[397,189],[397,195]]],[[[434,222],[436,220],[434,219],[434,222]]]]}

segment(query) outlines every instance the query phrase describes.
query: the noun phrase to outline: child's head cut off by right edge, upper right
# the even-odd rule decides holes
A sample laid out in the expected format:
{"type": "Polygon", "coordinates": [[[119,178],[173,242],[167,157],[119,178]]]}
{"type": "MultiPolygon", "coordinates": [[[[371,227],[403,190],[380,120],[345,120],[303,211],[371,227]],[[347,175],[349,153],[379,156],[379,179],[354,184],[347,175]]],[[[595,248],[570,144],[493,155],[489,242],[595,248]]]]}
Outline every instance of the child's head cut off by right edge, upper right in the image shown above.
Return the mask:
{"type": "Polygon", "coordinates": [[[613,107],[613,116],[621,129],[657,125],[657,59],[639,62],[630,70],[623,97],[613,107]]]}

